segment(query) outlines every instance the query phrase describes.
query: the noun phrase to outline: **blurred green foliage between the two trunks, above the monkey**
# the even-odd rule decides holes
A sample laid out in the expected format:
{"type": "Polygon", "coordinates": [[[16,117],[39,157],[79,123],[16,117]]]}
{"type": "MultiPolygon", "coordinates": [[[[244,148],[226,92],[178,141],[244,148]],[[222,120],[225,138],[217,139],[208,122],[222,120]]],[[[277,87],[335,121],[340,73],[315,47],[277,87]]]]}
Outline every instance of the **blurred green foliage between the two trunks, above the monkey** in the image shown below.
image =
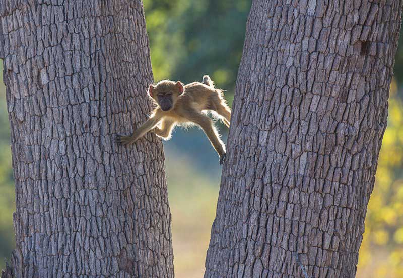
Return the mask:
{"type": "Polygon", "coordinates": [[[231,103],[250,3],[144,1],[155,80],[188,83],[209,74],[231,103]]]}

